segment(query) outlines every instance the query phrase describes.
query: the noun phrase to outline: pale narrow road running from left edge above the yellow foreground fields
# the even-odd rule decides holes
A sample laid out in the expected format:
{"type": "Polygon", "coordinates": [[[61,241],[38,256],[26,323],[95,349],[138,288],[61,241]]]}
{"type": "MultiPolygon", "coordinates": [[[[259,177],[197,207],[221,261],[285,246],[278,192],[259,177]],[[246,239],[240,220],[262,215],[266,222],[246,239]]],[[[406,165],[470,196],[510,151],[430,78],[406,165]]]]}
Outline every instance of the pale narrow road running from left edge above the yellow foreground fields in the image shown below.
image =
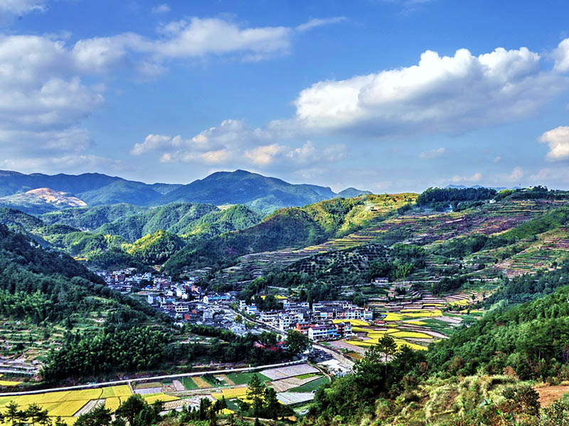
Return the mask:
{"type": "Polygon", "coordinates": [[[129,379],[125,379],[125,380],[89,383],[87,385],[65,386],[63,388],[50,388],[50,389],[38,389],[36,391],[0,393],[0,396],[33,395],[33,394],[37,394],[37,393],[48,393],[48,392],[58,392],[58,391],[77,391],[79,389],[100,388],[102,386],[127,385],[128,383],[139,382],[139,381],[159,381],[159,380],[164,380],[165,378],[191,377],[191,376],[203,376],[204,374],[226,374],[226,373],[239,373],[239,372],[243,372],[243,371],[266,370],[267,368],[292,366],[295,364],[304,364],[305,362],[306,361],[304,361],[304,360],[299,360],[299,361],[282,362],[280,364],[269,364],[266,366],[258,366],[258,367],[229,368],[227,370],[211,370],[211,371],[199,371],[196,373],[169,374],[166,376],[129,378],[129,379]]]}

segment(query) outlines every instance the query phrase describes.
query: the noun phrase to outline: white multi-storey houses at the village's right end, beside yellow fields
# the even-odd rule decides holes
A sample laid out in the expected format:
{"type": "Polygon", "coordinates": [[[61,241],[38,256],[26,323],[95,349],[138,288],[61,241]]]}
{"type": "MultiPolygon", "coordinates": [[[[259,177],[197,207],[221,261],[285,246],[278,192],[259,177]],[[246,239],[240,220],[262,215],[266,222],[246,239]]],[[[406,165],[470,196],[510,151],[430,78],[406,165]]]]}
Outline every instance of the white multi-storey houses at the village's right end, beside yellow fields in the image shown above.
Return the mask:
{"type": "Polygon", "coordinates": [[[283,332],[297,329],[316,341],[340,339],[351,334],[348,320],[373,320],[373,310],[345,300],[314,302],[312,309],[309,302],[282,300],[282,305],[282,310],[258,312],[255,305],[240,302],[240,310],[283,332]]]}

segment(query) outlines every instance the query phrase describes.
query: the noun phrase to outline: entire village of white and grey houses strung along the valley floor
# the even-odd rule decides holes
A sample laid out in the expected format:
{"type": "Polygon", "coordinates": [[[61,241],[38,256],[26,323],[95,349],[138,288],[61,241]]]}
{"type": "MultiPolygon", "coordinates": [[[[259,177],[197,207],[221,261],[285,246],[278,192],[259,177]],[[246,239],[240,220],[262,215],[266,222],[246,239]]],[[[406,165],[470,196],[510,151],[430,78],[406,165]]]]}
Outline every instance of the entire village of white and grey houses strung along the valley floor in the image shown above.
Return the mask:
{"type": "Polygon", "coordinates": [[[257,306],[238,300],[239,292],[209,293],[196,283],[199,276],[190,276],[180,283],[171,277],[136,273],[134,268],[100,272],[113,290],[144,297],[149,305],[184,324],[191,322],[228,329],[235,334],[259,334],[268,328],[285,334],[296,329],[314,342],[351,336],[350,320],[373,320],[373,310],[343,300],[296,302],[277,295],[279,310],[260,311],[257,306]],[[245,321],[246,319],[252,321],[245,321]],[[255,327],[262,324],[265,327],[255,327]]]}

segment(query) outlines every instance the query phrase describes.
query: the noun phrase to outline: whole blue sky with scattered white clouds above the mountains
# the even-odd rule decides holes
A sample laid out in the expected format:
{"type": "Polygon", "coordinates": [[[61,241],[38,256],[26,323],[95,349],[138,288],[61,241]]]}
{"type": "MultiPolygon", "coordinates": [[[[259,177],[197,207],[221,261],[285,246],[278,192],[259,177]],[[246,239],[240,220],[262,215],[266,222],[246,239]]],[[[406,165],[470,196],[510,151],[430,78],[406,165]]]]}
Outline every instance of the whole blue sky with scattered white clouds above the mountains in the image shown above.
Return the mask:
{"type": "Polygon", "coordinates": [[[0,0],[0,169],[569,189],[569,2],[0,0]]]}

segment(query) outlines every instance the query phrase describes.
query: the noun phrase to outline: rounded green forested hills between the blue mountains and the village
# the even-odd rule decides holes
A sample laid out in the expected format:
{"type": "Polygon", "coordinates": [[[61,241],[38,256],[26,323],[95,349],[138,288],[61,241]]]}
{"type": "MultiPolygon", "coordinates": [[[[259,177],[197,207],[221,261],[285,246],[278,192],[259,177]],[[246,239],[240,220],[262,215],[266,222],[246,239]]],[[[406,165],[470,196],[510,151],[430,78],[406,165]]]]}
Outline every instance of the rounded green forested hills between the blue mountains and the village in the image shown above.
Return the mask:
{"type": "Polygon", "coordinates": [[[41,219],[0,208],[0,223],[98,266],[142,266],[166,261],[191,241],[245,229],[261,221],[248,207],[219,209],[211,204],[130,204],[63,209],[41,219]]]}

